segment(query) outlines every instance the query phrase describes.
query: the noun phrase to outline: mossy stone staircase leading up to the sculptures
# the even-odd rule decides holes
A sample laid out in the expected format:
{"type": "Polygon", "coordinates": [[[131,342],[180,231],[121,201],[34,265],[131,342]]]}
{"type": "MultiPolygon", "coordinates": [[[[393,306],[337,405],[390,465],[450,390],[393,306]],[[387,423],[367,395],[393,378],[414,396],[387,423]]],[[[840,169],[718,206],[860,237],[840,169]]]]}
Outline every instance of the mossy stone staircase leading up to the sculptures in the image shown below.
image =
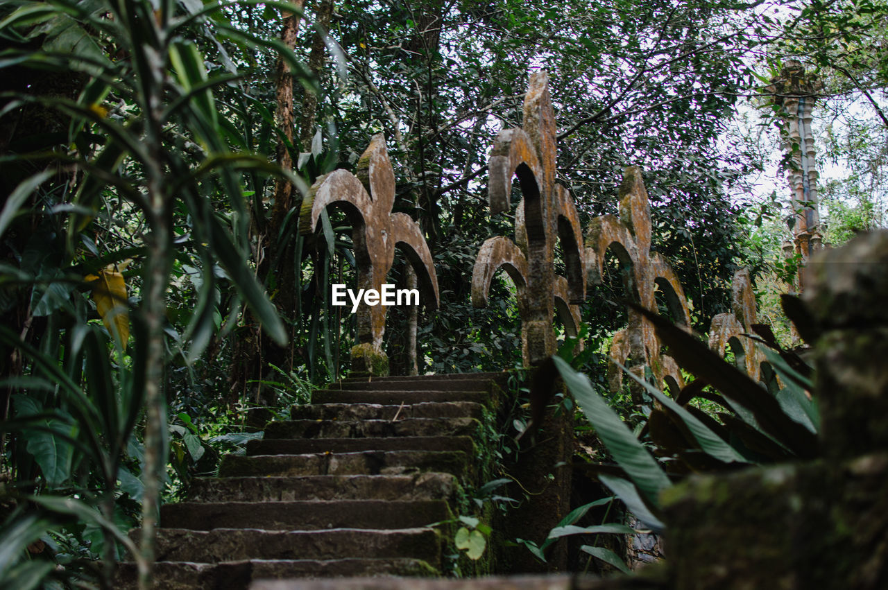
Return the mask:
{"type": "MultiPolygon", "coordinates": [[[[446,573],[433,523],[481,475],[482,431],[508,374],[346,379],[269,422],[246,455],[161,509],[155,587],[246,588],[260,578],[446,573]]],[[[123,563],[118,586],[134,586],[123,563]]]]}

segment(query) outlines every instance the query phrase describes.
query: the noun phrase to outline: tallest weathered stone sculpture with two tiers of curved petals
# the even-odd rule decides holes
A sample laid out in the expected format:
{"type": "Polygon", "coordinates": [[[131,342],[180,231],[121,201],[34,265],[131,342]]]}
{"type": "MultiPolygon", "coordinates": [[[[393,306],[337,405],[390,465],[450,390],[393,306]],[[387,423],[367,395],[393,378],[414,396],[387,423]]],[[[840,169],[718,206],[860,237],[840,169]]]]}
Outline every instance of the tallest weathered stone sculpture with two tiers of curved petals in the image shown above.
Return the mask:
{"type": "Polygon", "coordinates": [[[490,281],[505,270],[517,289],[521,350],[526,366],[555,352],[555,311],[567,334],[576,334],[585,295],[583,233],[574,201],[555,184],[555,114],[545,72],[530,76],[524,99],[523,128],[503,130],[490,154],[490,210],[509,209],[512,177],[518,177],[521,203],[515,214],[515,241],[503,236],[481,246],[472,271],[472,305],[488,303],[490,281]],[[555,273],[560,240],[567,279],[555,273]]]}

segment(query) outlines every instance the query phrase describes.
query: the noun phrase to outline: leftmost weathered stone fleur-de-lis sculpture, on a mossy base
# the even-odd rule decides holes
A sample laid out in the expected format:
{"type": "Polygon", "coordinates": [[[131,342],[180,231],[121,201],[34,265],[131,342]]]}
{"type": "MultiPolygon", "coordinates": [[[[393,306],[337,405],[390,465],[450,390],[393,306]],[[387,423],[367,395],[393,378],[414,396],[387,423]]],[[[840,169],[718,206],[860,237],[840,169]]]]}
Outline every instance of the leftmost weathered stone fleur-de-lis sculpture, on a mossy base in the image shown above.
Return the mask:
{"type": "MultiPolygon", "coordinates": [[[[353,228],[358,288],[382,289],[397,247],[416,271],[425,305],[437,309],[438,278],[432,254],[416,222],[403,213],[392,213],[394,188],[394,171],[385,150],[385,138],[378,134],[361,155],[357,176],[339,169],[314,182],[302,202],[300,230],[313,232],[324,208],[330,205],[341,208],[353,228]]],[[[358,343],[352,348],[353,371],[388,374],[388,358],[382,349],[385,311],[384,305],[367,305],[363,301],[359,304],[358,343]]]]}

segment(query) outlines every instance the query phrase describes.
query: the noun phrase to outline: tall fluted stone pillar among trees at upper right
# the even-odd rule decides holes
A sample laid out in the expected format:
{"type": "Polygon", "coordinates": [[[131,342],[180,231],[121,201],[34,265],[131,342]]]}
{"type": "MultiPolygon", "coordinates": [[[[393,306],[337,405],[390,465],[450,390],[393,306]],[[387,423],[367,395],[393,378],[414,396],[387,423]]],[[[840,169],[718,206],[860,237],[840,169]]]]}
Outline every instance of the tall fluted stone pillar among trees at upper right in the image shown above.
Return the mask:
{"type": "MultiPolygon", "coordinates": [[[[818,211],[818,172],[815,167],[814,138],[811,130],[811,112],[815,92],[821,83],[816,75],[806,74],[805,67],[795,59],[788,59],[780,75],[768,86],[774,104],[781,106],[784,118],[782,136],[788,151],[786,176],[789,182],[792,208],[793,243],[791,254],[799,254],[805,265],[811,255],[821,248],[821,220],[818,211]]],[[[784,247],[784,252],[788,248],[784,247]]],[[[799,272],[798,291],[805,290],[804,273],[799,272]]]]}

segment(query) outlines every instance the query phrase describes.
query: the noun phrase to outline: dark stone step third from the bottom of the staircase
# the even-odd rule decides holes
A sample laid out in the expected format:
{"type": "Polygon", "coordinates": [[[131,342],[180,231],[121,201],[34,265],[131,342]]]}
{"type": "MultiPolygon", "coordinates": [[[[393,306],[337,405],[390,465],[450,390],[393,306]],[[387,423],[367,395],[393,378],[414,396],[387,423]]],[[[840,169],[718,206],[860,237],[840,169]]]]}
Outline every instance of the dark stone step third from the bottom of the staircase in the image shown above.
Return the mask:
{"type": "Polygon", "coordinates": [[[446,500],[305,500],[178,502],[161,507],[170,529],[413,529],[450,518],[446,500]]]}

